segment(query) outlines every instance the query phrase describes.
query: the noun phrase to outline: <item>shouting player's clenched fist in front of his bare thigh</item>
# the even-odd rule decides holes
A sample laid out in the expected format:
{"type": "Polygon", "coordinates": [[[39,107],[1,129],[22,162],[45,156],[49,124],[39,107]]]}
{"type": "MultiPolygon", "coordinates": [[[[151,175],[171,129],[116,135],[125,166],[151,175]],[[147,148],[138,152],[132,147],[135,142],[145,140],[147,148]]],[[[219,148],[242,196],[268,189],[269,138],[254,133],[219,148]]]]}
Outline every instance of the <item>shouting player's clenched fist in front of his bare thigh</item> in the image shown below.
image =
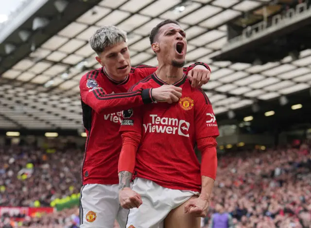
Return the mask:
{"type": "Polygon", "coordinates": [[[185,206],[185,213],[190,213],[194,217],[206,217],[209,201],[198,197],[196,199],[190,199],[185,206]]]}

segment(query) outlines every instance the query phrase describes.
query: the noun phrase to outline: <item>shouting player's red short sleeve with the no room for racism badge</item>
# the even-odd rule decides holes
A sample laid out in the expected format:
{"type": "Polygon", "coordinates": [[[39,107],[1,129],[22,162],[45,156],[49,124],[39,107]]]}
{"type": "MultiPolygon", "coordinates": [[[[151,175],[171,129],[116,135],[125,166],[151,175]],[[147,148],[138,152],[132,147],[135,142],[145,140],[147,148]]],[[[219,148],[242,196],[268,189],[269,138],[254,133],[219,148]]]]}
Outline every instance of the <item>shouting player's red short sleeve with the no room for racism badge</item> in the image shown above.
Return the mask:
{"type": "Polygon", "coordinates": [[[122,113],[122,123],[119,132],[142,133],[142,109],[140,107],[124,110],[122,113]]]}

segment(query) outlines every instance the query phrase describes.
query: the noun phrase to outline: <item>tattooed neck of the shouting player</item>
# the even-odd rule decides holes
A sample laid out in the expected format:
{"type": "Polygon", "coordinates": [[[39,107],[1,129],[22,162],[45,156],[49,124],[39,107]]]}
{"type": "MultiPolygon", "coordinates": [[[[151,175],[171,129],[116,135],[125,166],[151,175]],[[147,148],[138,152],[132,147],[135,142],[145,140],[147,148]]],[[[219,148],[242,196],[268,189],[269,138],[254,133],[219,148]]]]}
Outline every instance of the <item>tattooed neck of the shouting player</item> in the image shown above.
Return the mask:
{"type": "Polygon", "coordinates": [[[159,79],[169,85],[175,84],[184,76],[184,71],[182,68],[173,67],[172,65],[167,64],[159,64],[155,73],[159,79]]]}

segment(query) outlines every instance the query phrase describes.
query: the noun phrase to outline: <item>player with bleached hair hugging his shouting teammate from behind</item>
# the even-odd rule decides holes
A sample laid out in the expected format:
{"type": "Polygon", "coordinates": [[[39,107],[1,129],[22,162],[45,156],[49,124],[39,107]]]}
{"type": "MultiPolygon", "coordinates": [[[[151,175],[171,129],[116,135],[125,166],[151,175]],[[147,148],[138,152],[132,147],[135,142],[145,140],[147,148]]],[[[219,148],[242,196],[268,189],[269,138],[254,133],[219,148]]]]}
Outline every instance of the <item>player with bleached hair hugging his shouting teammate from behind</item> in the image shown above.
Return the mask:
{"type": "MultiPolygon", "coordinates": [[[[181,88],[138,88],[127,92],[135,83],[156,68],[131,68],[126,35],[114,26],[99,29],[90,39],[103,66],[86,73],[80,81],[83,122],[86,128],[86,153],[83,161],[83,186],[80,193],[81,228],[113,228],[115,219],[125,226],[128,210],[118,198],[118,160],[121,152],[122,110],[154,101],[177,102],[181,88]]],[[[184,68],[197,81],[207,83],[210,71],[203,63],[184,68]],[[195,69],[193,69],[195,67],[195,69]],[[192,70],[193,69],[193,70],[192,70]]]]}

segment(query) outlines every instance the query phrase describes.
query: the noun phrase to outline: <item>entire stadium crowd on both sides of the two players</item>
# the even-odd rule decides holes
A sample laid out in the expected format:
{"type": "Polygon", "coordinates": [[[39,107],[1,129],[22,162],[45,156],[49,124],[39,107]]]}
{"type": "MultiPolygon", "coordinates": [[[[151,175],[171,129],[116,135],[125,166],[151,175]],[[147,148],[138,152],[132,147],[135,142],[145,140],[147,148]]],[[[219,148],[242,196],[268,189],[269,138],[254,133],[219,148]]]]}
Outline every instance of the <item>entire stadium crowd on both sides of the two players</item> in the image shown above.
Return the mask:
{"type": "MultiPolygon", "coordinates": [[[[0,207],[34,207],[36,201],[49,207],[56,198],[79,193],[82,160],[78,149],[47,153],[29,146],[1,147],[0,207]]],[[[311,228],[310,147],[302,144],[221,156],[205,228],[212,228],[209,221],[216,205],[230,213],[234,228],[311,228]]],[[[14,219],[2,214],[0,228],[75,228],[78,214],[75,207],[26,216],[21,223],[12,223],[14,219]]]]}

